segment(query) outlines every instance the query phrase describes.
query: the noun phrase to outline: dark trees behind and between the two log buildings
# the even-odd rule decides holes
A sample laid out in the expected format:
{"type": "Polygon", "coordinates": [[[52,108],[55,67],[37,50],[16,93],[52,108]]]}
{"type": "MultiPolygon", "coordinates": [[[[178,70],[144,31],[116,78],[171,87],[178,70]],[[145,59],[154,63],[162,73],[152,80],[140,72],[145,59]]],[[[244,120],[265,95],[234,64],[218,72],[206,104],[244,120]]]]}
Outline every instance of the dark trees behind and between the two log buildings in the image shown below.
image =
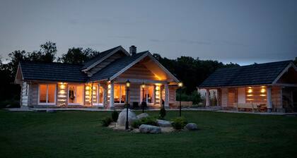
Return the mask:
{"type": "MultiPolygon", "coordinates": [[[[57,56],[57,47],[54,42],[45,42],[40,45],[37,51],[16,50],[8,54],[7,63],[0,60],[0,107],[1,105],[17,105],[21,90],[19,85],[15,85],[14,78],[18,68],[19,61],[39,61],[39,62],[61,62],[61,63],[83,63],[93,56],[99,54],[99,51],[81,47],[72,47],[62,56],[57,56]]],[[[153,54],[165,68],[173,73],[179,80],[184,83],[185,88],[182,90],[182,96],[185,101],[199,102],[197,86],[203,82],[217,68],[226,68],[239,66],[237,63],[224,64],[213,60],[194,59],[191,56],[181,56],[177,59],[167,59],[160,54],[153,54]],[[198,96],[198,97],[197,97],[198,96]]],[[[297,60],[295,59],[295,63],[297,60]]]]}

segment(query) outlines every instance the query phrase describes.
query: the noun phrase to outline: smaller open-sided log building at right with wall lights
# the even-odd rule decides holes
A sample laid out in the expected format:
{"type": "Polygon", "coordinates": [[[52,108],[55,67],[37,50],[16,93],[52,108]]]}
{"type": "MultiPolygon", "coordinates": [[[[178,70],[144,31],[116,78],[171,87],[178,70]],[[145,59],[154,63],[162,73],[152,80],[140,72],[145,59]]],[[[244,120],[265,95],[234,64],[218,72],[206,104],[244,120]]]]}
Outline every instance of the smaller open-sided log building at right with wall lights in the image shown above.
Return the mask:
{"type": "Polygon", "coordinates": [[[297,111],[297,68],[292,61],[220,68],[199,85],[216,90],[217,105],[223,109],[252,111],[297,111]]]}

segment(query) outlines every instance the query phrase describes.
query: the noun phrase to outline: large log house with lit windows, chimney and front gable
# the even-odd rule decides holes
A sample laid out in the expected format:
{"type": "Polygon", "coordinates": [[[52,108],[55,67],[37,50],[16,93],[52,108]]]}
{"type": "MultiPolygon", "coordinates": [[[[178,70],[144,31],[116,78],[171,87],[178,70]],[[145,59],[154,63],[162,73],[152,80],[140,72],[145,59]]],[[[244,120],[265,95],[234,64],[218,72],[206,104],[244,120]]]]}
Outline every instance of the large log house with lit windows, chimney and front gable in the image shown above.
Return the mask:
{"type": "Polygon", "coordinates": [[[21,106],[103,109],[122,108],[128,101],[169,107],[178,82],[149,51],[136,53],[135,46],[129,53],[121,46],[103,51],[82,65],[22,61],[15,80],[21,85],[21,106]]]}

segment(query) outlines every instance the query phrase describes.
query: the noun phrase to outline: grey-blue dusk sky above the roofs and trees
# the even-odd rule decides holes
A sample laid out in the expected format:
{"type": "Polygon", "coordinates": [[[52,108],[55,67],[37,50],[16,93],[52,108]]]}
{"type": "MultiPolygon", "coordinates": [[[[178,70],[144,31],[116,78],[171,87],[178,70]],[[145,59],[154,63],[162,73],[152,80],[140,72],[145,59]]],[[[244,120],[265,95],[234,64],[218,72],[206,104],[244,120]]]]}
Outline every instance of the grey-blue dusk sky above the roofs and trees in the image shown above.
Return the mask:
{"type": "Polygon", "coordinates": [[[50,40],[104,51],[118,45],[169,59],[263,63],[297,56],[297,1],[0,2],[0,56],[50,40]]]}

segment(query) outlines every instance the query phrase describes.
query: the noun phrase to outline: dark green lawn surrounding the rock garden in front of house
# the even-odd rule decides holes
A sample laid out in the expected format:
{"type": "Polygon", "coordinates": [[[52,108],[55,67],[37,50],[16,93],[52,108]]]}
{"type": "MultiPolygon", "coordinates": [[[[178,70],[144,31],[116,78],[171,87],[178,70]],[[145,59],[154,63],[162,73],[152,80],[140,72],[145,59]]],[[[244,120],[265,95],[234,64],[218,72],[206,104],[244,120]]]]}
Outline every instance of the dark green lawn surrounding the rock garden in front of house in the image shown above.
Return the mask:
{"type": "MultiPolygon", "coordinates": [[[[0,110],[0,157],[296,157],[297,117],[183,111],[200,130],[158,135],[100,126],[110,112],[0,110]]],[[[148,112],[158,115],[158,111],[148,112]]],[[[173,119],[177,111],[167,111],[173,119]]]]}

